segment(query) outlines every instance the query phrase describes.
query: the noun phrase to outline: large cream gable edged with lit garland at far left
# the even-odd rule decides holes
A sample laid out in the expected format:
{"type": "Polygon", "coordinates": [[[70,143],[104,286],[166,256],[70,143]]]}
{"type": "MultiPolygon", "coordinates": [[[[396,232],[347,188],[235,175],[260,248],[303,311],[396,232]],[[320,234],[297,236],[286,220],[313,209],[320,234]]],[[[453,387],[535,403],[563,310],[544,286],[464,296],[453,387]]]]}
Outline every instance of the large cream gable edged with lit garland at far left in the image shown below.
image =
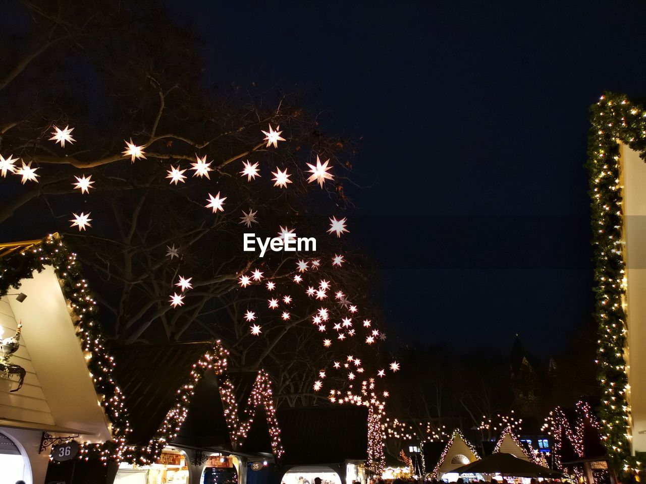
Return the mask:
{"type": "MultiPolygon", "coordinates": [[[[112,358],[105,351],[96,301],[76,254],[57,234],[42,241],[1,244],[0,296],[17,290],[27,299],[4,297],[3,314],[5,321],[23,323],[25,348],[17,352],[16,363],[25,365],[23,388],[33,398],[26,420],[39,423],[43,430],[67,434],[79,430],[79,440],[95,442],[84,443],[81,454],[99,456],[94,452],[97,446],[122,436],[128,423],[123,396],[112,379],[112,358]]],[[[12,405],[23,388],[3,396],[0,404],[5,405],[0,407],[12,405]]],[[[11,412],[3,415],[9,416],[5,423],[10,425],[11,412]]]]}

